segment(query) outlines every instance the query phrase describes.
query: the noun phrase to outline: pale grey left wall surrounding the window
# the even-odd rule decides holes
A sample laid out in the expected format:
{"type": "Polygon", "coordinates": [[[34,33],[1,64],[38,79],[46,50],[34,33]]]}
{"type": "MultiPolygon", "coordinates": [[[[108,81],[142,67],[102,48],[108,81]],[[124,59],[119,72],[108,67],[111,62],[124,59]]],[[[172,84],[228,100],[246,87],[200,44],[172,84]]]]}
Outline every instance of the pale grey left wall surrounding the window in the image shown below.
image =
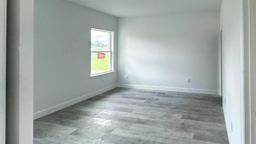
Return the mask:
{"type": "Polygon", "coordinates": [[[34,113],[117,83],[90,77],[91,28],[114,32],[116,70],[116,17],[66,0],[35,0],[34,16],[34,113]]]}

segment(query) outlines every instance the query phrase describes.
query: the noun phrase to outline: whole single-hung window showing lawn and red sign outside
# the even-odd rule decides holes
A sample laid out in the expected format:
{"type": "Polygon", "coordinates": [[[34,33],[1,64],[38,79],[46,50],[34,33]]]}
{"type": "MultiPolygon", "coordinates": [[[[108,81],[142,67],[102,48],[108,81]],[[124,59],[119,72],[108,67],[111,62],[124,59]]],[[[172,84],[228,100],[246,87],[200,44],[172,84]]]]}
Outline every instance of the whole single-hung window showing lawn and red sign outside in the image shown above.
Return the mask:
{"type": "Polygon", "coordinates": [[[113,32],[91,30],[91,76],[113,71],[113,32]]]}

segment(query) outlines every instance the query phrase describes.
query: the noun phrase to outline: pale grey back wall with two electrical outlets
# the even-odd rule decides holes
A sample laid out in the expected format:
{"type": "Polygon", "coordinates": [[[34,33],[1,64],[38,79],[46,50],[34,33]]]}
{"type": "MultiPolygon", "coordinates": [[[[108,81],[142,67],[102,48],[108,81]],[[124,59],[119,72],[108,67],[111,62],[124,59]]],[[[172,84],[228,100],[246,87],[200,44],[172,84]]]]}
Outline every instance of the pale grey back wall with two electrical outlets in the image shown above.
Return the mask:
{"type": "Polygon", "coordinates": [[[219,18],[219,12],[118,18],[118,84],[218,93],[219,18]]]}

